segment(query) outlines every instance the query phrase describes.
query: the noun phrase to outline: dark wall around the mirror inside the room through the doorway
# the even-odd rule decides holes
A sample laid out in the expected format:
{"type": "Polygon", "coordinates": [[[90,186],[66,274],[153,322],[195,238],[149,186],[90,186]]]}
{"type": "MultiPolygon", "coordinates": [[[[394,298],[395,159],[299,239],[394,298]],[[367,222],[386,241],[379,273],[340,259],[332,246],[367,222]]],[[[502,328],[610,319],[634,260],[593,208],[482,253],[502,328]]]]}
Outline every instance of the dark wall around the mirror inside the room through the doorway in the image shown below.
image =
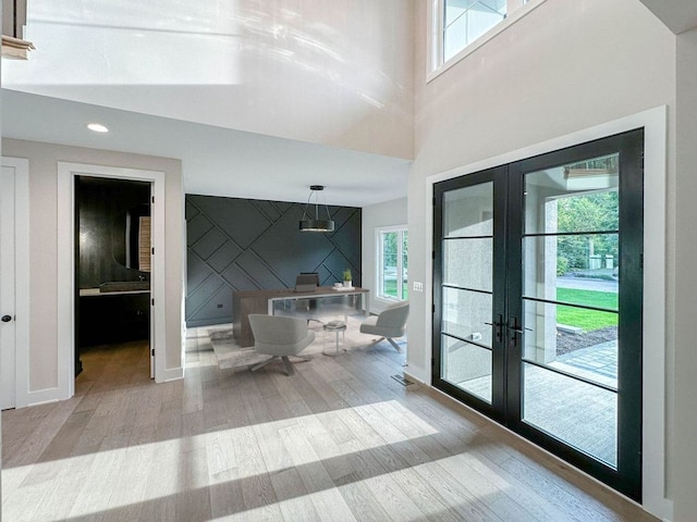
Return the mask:
{"type": "Polygon", "coordinates": [[[75,181],[78,236],[80,288],[97,288],[111,281],[138,281],[150,278],[146,272],[127,269],[114,254],[123,253],[123,241],[114,243],[114,236],[125,239],[125,214],[139,206],[149,207],[150,184],[103,177],[80,176],[75,181]],[[114,234],[114,228],[119,228],[114,234]]]}

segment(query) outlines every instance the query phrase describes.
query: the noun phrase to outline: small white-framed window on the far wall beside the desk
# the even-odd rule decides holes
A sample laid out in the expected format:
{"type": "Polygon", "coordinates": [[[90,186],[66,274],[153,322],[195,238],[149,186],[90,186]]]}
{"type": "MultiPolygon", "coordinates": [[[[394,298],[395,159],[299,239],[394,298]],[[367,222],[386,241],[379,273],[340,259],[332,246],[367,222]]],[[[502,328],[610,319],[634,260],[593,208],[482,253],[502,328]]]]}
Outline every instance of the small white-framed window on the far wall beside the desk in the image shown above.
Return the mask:
{"type": "Polygon", "coordinates": [[[405,226],[376,229],[379,298],[407,298],[407,234],[405,226]]]}

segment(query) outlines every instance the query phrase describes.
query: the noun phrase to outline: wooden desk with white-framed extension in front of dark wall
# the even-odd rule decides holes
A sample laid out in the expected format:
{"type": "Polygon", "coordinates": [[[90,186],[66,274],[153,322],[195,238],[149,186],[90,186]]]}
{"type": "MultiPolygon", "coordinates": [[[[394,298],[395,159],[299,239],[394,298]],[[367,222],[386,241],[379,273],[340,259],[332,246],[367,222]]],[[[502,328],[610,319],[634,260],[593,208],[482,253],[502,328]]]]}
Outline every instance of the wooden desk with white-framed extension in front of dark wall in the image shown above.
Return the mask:
{"type": "Polygon", "coordinates": [[[254,346],[254,335],[247,315],[266,313],[269,315],[301,315],[316,318],[325,312],[342,312],[344,316],[350,310],[357,310],[364,315],[368,312],[367,288],[335,290],[331,286],[320,286],[315,291],[280,290],[244,290],[232,296],[232,332],[242,347],[254,346]]]}

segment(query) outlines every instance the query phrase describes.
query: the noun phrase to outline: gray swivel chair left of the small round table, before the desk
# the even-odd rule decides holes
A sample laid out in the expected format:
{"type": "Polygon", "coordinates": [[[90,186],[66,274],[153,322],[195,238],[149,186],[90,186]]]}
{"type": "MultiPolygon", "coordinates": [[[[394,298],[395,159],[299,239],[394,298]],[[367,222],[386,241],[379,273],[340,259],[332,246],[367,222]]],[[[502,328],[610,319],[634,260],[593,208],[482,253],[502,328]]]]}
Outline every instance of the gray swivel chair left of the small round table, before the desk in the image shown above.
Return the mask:
{"type": "Polygon", "coordinates": [[[248,318],[257,352],[273,356],[252,366],[252,371],[254,372],[280,357],[285,365],[285,373],[293,375],[295,372],[289,356],[297,356],[315,340],[315,332],[307,328],[307,321],[302,318],[260,313],[250,313],[248,318]]]}

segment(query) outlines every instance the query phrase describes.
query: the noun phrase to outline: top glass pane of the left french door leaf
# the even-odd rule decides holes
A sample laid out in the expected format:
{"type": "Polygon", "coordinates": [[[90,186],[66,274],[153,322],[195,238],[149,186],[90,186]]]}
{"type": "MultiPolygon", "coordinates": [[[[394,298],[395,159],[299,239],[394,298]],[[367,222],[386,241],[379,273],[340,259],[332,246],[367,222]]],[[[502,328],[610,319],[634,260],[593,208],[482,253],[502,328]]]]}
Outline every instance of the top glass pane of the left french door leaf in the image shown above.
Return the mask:
{"type": "Polygon", "coordinates": [[[450,190],[443,196],[443,236],[493,235],[493,183],[450,190]]]}

